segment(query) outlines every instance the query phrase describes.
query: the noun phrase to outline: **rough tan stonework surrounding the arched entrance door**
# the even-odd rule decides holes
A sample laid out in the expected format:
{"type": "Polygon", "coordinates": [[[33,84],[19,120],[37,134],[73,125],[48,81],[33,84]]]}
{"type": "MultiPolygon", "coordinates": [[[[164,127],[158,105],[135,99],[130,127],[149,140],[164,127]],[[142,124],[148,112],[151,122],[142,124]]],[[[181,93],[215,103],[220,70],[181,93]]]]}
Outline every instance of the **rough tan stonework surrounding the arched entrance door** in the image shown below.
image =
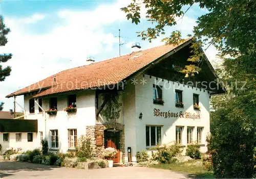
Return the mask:
{"type": "Polygon", "coordinates": [[[104,124],[96,124],[92,126],[86,126],[86,136],[91,138],[92,147],[95,157],[102,157],[102,152],[104,150],[104,130],[116,129],[120,132],[120,163],[124,163],[125,156],[125,146],[124,146],[124,125],[115,122],[108,122],[104,124]],[[96,136],[103,136],[103,145],[96,146],[96,136]]]}

